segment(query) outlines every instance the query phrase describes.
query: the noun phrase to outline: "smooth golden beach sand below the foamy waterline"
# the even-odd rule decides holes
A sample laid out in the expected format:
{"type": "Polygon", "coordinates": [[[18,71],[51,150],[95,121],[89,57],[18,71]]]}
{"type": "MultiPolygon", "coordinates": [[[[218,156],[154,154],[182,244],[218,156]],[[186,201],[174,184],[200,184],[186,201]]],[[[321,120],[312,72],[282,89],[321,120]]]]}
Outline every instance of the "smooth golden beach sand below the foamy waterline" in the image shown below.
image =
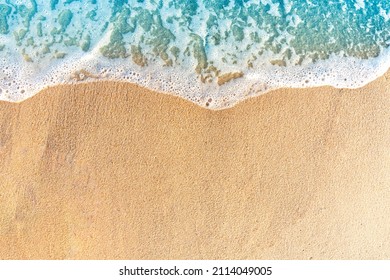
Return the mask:
{"type": "Polygon", "coordinates": [[[389,73],[223,111],[119,83],[0,103],[2,259],[388,259],[389,205],[389,73]]]}

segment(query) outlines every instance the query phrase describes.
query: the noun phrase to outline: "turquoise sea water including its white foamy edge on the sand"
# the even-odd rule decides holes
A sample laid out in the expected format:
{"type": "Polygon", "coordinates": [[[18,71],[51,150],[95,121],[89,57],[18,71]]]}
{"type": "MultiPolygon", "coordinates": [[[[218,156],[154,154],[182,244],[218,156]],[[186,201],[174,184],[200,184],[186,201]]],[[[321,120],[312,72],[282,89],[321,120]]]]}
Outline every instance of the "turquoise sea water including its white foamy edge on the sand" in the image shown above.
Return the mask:
{"type": "Polygon", "coordinates": [[[225,108],[390,66],[388,0],[0,0],[0,99],[129,81],[225,108]]]}

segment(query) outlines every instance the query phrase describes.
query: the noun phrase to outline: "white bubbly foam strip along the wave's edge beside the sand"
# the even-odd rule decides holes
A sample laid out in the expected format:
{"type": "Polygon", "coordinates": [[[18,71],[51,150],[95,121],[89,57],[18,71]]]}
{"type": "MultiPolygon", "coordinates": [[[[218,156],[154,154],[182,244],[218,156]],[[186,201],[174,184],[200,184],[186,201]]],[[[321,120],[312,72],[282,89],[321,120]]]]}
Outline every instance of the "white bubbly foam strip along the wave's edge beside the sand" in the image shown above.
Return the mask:
{"type": "MultiPolygon", "coordinates": [[[[97,48],[95,48],[95,52],[97,48]]],[[[21,61],[2,61],[0,74],[9,83],[1,88],[0,99],[18,102],[40,90],[58,84],[92,81],[132,82],[152,90],[173,94],[211,109],[231,107],[239,101],[270,90],[291,87],[306,88],[330,85],[337,88],[358,88],[382,76],[390,66],[390,49],[367,60],[331,56],[325,61],[306,65],[281,67],[263,65],[248,70],[243,77],[226,85],[199,83],[198,77],[186,67],[164,69],[123,65],[121,59],[107,59],[93,54],[73,55],[31,76],[35,69],[25,67],[21,61]],[[23,67],[22,67],[23,65],[23,67]],[[22,70],[22,71],[21,71],[22,70]],[[84,72],[85,70],[85,72],[84,72]],[[86,76],[85,73],[91,75],[86,76]],[[75,77],[82,81],[76,81],[75,77]]],[[[236,69],[231,69],[232,72],[236,69]]],[[[238,68],[237,68],[238,70],[238,68]]]]}

